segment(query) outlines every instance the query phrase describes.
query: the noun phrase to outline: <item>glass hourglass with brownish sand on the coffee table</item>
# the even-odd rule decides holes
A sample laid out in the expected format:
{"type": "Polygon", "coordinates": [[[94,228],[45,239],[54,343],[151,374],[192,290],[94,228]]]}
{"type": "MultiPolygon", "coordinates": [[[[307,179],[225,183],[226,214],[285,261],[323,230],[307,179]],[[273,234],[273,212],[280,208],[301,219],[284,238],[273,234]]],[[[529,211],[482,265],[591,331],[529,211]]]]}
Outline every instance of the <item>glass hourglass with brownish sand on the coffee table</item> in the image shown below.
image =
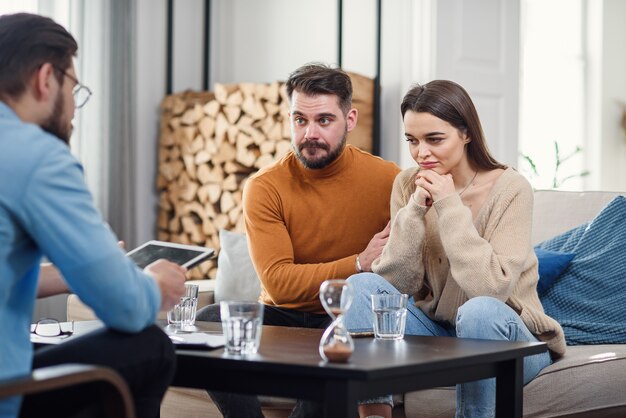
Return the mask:
{"type": "Polygon", "coordinates": [[[320,340],[320,356],[333,363],[345,363],[354,351],[354,342],[343,323],[343,314],[352,303],[352,288],[345,280],[326,280],[320,286],[322,306],[333,320],[320,340]]]}

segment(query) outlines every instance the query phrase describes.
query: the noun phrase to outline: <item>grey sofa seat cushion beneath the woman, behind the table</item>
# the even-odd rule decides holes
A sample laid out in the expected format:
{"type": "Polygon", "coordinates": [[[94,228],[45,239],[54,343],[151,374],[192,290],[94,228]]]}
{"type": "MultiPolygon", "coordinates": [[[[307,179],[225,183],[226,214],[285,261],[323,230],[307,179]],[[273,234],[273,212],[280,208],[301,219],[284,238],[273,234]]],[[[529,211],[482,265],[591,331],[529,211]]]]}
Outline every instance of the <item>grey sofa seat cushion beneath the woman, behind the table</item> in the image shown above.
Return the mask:
{"type": "MultiPolygon", "coordinates": [[[[626,345],[568,347],[524,387],[524,417],[626,416],[626,345]]],[[[454,417],[454,387],[407,393],[407,418],[454,417]]]]}

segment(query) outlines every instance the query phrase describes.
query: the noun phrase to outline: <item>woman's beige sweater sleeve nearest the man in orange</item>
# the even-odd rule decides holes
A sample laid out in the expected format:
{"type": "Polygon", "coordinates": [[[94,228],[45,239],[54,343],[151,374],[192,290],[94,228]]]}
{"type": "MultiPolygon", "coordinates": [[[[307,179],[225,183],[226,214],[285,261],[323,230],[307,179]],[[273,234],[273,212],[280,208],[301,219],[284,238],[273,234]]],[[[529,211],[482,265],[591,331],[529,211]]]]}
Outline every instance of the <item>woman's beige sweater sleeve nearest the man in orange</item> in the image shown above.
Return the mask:
{"type": "Polygon", "coordinates": [[[393,217],[389,240],[381,256],[372,263],[372,271],[383,276],[400,292],[412,295],[417,293],[424,282],[422,250],[424,216],[428,208],[415,202],[413,195],[407,193],[406,185],[406,176],[396,177],[391,194],[393,217]],[[395,215],[394,207],[400,207],[395,215]]]}

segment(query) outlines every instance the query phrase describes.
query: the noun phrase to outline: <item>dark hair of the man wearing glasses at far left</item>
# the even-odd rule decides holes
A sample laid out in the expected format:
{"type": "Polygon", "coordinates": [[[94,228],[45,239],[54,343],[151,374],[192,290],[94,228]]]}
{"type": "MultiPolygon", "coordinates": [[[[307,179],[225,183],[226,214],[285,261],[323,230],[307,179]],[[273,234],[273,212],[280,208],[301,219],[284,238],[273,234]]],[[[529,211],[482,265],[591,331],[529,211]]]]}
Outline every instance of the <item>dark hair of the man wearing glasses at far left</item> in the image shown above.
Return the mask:
{"type": "Polygon", "coordinates": [[[0,98],[17,98],[43,64],[51,63],[59,83],[72,65],[76,40],[52,19],[30,13],[0,16],[0,98]]]}

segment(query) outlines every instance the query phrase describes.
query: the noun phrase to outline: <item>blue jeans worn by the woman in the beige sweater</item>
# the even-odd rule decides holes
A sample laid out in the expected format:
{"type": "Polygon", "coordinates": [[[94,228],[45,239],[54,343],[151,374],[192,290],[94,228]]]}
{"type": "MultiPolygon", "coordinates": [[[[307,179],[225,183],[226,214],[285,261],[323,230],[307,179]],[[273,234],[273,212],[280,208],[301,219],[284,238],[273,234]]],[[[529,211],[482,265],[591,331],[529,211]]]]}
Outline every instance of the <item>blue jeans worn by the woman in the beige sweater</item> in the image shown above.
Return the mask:
{"type": "MultiPolygon", "coordinates": [[[[354,290],[352,305],[345,315],[350,331],[372,330],[370,295],[399,293],[389,282],[377,274],[361,273],[348,281],[354,290]]],[[[430,319],[409,300],[405,334],[485,340],[539,341],[528,330],[519,315],[500,300],[488,296],[475,297],[459,307],[456,327],[430,319]]],[[[524,384],[552,363],[548,352],[524,358],[524,384]]],[[[496,381],[494,378],[463,383],[456,386],[457,417],[495,416],[496,381]]],[[[380,401],[379,398],[376,401],[380,401]]],[[[363,403],[372,403],[365,401],[363,403]]],[[[388,403],[388,402],[385,402],[388,403]]]]}

